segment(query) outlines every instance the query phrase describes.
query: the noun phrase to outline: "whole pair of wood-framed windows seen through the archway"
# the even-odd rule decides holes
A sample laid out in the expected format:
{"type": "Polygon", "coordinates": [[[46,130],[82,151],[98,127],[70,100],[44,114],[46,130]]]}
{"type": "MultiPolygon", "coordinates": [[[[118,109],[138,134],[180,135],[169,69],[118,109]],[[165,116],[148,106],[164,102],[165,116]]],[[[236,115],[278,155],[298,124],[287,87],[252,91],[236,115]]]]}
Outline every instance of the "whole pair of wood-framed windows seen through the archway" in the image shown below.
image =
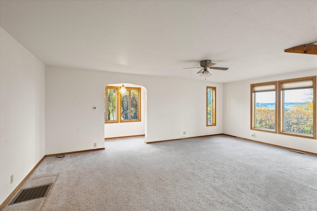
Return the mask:
{"type": "Polygon", "coordinates": [[[118,86],[106,86],[105,123],[141,121],[141,88],[125,88],[125,93],[120,93],[118,86]]]}

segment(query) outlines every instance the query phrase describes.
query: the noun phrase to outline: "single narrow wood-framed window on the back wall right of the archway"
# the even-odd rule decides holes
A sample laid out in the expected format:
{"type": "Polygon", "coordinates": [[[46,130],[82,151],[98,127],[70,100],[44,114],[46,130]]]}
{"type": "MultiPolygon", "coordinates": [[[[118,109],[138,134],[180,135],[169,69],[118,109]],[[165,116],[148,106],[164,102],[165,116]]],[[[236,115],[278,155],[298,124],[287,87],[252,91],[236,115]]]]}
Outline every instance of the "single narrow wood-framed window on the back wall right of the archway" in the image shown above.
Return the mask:
{"type": "Polygon", "coordinates": [[[216,87],[207,86],[207,126],[216,125],[216,87]]]}

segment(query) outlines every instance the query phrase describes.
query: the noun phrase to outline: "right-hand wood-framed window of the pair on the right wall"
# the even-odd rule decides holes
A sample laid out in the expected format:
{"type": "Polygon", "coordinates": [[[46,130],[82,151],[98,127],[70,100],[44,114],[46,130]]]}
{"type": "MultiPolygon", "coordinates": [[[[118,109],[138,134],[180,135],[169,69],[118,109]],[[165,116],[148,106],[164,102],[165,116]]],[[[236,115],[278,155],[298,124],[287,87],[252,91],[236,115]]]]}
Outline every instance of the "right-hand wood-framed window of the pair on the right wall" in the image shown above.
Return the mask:
{"type": "Polygon", "coordinates": [[[279,81],[279,133],[316,139],[316,76],[279,81]]]}

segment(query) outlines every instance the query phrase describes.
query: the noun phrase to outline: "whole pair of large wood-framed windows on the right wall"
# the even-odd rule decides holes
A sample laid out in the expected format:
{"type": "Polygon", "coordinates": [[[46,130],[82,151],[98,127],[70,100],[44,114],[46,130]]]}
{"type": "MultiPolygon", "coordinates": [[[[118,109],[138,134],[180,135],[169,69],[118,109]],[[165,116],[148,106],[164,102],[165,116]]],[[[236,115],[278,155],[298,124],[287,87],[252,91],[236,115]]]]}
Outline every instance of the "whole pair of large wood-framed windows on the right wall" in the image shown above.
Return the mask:
{"type": "Polygon", "coordinates": [[[316,139],[316,76],[251,84],[251,129],[316,139]]]}

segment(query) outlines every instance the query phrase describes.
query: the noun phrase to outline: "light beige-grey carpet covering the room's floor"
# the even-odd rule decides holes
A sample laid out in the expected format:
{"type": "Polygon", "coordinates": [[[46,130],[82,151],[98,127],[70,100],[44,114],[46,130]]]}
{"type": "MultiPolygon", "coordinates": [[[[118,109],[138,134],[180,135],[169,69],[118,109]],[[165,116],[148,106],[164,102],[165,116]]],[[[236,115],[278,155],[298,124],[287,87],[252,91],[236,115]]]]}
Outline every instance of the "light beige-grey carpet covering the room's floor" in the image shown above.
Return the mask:
{"type": "Polygon", "coordinates": [[[316,211],[317,156],[226,135],[46,158],[21,188],[46,198],[3,211],[316,211]]]}

